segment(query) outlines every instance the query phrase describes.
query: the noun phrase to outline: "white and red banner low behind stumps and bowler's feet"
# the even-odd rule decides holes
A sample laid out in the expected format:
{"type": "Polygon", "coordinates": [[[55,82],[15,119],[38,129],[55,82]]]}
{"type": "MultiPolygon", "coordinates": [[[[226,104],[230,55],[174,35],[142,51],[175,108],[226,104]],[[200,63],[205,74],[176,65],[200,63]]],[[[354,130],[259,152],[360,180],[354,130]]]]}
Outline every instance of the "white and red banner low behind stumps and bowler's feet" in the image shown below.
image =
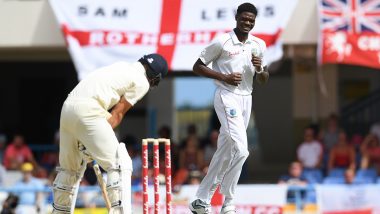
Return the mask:
{"type": "MultiPolygon", "coordinates": [[[[172,213],[188,214],[189,203],[196,199],[198,185],[183,185],[176,189],[172,196],[172,213]]],[[[286,204],[287,187],[284,185],[238,185],[235,192],[236,209],[239,214],[281,214],[286,204]]],[[[153,186],[149,188],[150,213],[153,209],[153,186]]],[[[160,187],[160,213],[165,213],[165,187],[160,187]]],[[[212,214],[220,213],[223,197],[216,192],[211,201],[212,214]]],[[[134,211],[140,213],[142,196],[135,193],[133,196],[134,211]],[[135,209],[136,208],[136,209],[135,209]]]]}

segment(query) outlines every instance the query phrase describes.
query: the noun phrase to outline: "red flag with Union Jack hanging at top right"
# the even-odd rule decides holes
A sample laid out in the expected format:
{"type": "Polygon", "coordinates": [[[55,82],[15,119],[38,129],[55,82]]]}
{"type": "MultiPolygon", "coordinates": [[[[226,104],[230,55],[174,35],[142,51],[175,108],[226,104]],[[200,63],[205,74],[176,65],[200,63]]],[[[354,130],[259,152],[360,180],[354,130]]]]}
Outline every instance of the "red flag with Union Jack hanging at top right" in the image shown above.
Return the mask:
{"type": "Polygon", "coordinates": [[[319,0],[319,57],[380,69],[380,1],[319,0]]]}

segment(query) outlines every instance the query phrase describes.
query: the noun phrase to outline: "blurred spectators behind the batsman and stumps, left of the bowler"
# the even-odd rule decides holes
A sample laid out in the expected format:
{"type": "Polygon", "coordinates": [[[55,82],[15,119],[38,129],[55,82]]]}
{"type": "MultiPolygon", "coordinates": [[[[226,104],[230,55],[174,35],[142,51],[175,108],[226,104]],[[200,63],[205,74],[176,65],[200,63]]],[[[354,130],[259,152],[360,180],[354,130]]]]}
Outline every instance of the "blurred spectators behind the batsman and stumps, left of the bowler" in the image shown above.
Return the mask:
{"type": "MultiPolygon", "coordinates": [[[[158,130],[160,138],[171,138],[169,126],[158,130]]],[[[211,131],[205,139],[197,134],[195,125],[189,125],[187,136],[179,144],[172,145],[173,187],[182,184],[198,184],[207,170],[213,153],[216,151],[218,131],[211,131]]],[[[55,168],[59,160],[59,134],[55,135],[50,145],[28,144],[21,133],[15,133],[11,140],[0,133],[0,201],[3,201],[3,212],[16,209],[16,213],[46,213],[42,210],[52,204],[52,193],[46,191],[53,185],[56,176],[55,168]],[[8,188],[8,189],[7,189],[8,188]],[[20,191],[25,189],[41,189],[41,191],[20,191]],[[11,194],[8,194],[12,189],[11,194]],[[14,191],[13,191],[14,190],[14,191]],[[46,206],[47,205],[47,206],[46,206]]],[[[133,160],[132,184],[136,191],[134,199],[142,200],[141,190],[141,143],[134,136],[125,136],[121,142],[126,142],[127,150],[133,160]]],[[[152,149],[149,149],[152,152],[152,149]]],[[[150,164],[153,154],[149,154],[150,164]]],[[[160,180],[165,182],[164,176],[164,148],[160,148],[160,180]]],[[[153,171],[150,168],[150,184],[153,183],[153,171]]],[[[82,187],[94,187],[91,191],[80,192],[77,207],[104,207],[104,200],[97,187],[97,179],[89,163],[80,184],[82,187]]],[[[176,188],[174,188],[174,191],[176,188]]],[[[51,207],[50,207],[51,208],[51,207]]]]}

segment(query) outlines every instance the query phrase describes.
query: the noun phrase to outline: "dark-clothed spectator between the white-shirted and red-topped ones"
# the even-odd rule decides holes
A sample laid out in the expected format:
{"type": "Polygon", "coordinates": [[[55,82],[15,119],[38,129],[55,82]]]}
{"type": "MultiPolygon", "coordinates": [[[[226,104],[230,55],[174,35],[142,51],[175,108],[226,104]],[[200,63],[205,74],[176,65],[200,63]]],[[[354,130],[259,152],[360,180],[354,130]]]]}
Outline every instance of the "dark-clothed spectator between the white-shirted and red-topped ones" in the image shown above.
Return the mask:
{"type": "Polygon", "coordinates": [[[327,121],[327,129],[323,133],[323,145],[327,153],[333,148],[333,146],[338,142],[339,137],[339,127],[338,127],[338,117],[335,114],[331,114],[327,121]]]}

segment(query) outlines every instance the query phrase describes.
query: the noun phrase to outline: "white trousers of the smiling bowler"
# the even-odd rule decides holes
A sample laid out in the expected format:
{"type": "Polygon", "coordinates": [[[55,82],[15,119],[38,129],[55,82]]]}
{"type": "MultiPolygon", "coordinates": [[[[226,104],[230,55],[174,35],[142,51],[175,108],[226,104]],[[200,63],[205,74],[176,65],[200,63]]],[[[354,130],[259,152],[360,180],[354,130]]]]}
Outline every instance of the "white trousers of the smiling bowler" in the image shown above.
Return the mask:
{"type": "Polygon", "coordinates": [[[249,155],[246,130],[251,107],[251,95],[237,95],[221,88],[215,91],[214,108],[221,127],[217,150],[196,194],[199,199],[210,203],[218,185],[225,197],[233,198],[241,169],[249,155]]]}

